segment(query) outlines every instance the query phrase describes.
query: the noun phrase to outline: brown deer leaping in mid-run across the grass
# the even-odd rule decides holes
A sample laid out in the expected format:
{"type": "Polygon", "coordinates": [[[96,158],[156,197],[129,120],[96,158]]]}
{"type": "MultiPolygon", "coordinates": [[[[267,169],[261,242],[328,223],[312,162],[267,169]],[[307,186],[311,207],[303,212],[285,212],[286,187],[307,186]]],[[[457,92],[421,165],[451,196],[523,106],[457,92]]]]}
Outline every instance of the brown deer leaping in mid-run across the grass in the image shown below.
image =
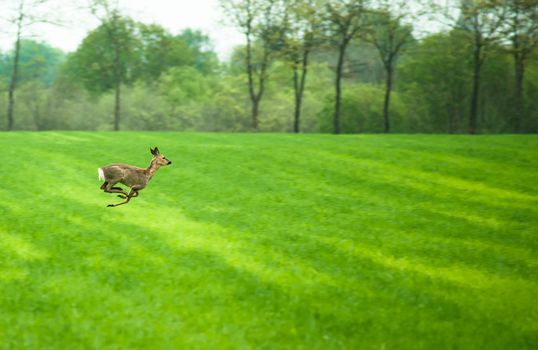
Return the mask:
{"type": "Polygon", "coordinates": [[[131,198],[138,197],[138,191],[148,185],[149,180],[151,180],[161,166],[172,164],[171,161],[159,152],[157,147],[150,148],[150,151],[153,159],[146,169],[128,164],[109,164],[97,169],[99,180],[104,181],[101,189],[108,193],[121,193],[118,197],[125,199],[121,203],[109,204],[108,207],[127,204],[131,198]],[[130,187],[131,191],[127,193],[121,187],[114,187],[118,182],[130,187]]]}

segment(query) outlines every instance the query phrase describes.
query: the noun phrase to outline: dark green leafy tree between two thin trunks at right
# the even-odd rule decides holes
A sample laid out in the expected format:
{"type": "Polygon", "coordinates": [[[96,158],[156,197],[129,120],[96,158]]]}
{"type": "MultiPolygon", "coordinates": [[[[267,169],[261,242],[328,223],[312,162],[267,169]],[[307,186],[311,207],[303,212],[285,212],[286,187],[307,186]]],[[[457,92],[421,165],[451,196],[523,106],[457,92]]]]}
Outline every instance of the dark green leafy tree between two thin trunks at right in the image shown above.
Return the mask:
{"type": "Polygon", "coordinates": [[[452,31],[425,38],[399,68],[400,89],[421,130],[467,130],[471,62],[461,35],[452,31]]]}

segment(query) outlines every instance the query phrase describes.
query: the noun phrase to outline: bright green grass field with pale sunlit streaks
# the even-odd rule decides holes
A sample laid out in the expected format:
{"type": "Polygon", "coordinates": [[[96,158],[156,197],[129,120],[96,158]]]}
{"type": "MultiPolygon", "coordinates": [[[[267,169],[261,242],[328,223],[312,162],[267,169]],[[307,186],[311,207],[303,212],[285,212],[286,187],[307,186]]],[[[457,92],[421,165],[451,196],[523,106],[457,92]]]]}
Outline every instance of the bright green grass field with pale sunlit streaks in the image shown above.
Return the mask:
{"type": "Polygon", "coordinates": [[[538,137],[0,134],[1,349],[536,349],[538,137]],[[138,198],[97,168],[173,161],[138,198]]]}

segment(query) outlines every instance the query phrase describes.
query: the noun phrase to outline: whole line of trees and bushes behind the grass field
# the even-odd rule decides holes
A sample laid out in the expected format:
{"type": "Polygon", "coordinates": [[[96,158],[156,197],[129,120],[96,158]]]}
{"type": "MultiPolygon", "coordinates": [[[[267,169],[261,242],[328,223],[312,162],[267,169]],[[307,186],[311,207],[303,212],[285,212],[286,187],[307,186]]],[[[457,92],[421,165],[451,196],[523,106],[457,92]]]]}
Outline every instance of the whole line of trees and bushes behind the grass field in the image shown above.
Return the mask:
{"type": "Polygon", "coordinates": [[[221,0],[245,38],[226,61],[103,0],[65,53],[25,36],[17,2],[0,130],[538,132],[536,0],[221,0]]]}

